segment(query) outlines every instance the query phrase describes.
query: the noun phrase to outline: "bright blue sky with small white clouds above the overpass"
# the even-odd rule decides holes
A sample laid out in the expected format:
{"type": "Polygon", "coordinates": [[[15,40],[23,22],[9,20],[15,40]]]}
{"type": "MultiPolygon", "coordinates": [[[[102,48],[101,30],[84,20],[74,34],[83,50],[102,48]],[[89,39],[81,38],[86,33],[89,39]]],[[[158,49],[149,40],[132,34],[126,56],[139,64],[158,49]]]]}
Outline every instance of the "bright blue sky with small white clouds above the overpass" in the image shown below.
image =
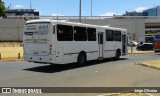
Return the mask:
{"type": "MultiPolygon", "coordinates": [[[[41,16],[79,16],[80,0],[2,0],[5,6],[12,9],[32,8],[41,16]]],[[[141,12],[145,9],[160,5],[160,0],[81,0],[82,16],[113,16],[122,15],[126,11],[141,12]]]]}

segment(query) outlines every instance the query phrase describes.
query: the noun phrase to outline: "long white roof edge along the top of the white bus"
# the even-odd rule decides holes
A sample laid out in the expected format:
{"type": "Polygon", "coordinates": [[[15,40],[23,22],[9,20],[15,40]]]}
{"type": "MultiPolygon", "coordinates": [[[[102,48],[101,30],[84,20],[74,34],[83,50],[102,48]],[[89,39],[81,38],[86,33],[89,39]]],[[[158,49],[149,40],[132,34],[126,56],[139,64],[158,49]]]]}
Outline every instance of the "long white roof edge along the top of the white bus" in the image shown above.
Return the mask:
{"type": "Polygon", "coordinates": [[[85,23],[76,23],[76,22],[68,22],[67,20],[50,20],[50,19],[37,19],[37,20],[29,20],[26,22],[26,24],[29,23],[35,23],[35,22],[43,22],[43,23],[53,23],[53,24],[70,24],[70,25],[77,25],[77,26],[88,26],[88,27],[98,27],[102,29],[112,29],[112,30],[122,30],[127,31],[123,28],[116,28],[116,27],[110,27],[110,25],[107,26],[101,26],[101,25],[93,25],[93,24],[85,24],[85,23]]]}

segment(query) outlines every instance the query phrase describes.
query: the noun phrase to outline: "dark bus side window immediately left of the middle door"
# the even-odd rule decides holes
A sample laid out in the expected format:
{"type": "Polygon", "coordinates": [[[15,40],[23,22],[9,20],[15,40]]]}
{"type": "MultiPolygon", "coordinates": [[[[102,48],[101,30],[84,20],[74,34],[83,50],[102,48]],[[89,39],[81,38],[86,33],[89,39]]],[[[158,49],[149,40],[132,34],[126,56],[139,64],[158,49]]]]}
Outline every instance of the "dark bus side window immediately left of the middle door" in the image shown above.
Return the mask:
{"type": "Polygon", "coordinates": [[[88,41],[96,41],[96,29],[87,28],[87,32],[88,32],[88,41]]]}

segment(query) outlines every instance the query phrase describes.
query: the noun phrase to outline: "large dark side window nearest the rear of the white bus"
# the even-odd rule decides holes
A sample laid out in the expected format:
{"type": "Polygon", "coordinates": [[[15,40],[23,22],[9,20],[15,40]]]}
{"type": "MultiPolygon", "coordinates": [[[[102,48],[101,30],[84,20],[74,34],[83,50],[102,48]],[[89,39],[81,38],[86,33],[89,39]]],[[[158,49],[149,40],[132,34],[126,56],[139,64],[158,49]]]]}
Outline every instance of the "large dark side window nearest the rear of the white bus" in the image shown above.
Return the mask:
{"type": "Polygon", "coordinates": [[[57,25],[58,41],[73,41],[73,27],[68,25],[57,25]]]}

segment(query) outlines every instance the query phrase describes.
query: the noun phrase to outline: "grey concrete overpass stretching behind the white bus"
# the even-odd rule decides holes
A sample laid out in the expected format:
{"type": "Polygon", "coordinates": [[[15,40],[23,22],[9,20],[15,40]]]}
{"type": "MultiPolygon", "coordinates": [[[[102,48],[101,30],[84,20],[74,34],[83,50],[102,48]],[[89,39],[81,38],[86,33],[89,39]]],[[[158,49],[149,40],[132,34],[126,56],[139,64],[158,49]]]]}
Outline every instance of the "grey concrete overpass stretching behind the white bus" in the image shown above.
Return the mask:
{"type": "MultiPolygon", "coordinates": [[[[0,19],[0,41],[22,41],[25,20],[32,17],[16,16],[0,19]]],[[[39,16],[38,18],[79,22],[79,16],[39,16]]],[[[146,41],[148,35],[146,30],[154,29],[153,26],[160,28],[160,17],[155,16],[82,16],[81,19],[82,23],[125,28],[129,33],[129,40],[137,42],[146,41]],[[153,26],[148,28],[148,25],[153,26]]]]}

